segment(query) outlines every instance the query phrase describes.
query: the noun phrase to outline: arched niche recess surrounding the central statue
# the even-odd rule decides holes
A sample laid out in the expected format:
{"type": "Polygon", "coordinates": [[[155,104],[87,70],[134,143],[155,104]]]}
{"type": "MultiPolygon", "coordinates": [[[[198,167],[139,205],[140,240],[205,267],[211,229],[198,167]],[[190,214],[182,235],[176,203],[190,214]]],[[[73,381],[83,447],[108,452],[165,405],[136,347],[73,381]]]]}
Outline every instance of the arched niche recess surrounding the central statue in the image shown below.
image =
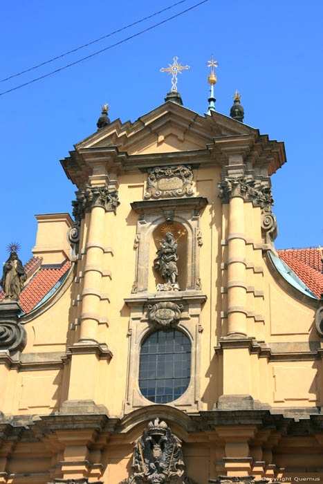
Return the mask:
{"type": "Polygon", "coordinates": [[[149,274],[148,274],[148,292],[155,292],[158,284],[163,284],[163,277],[160,272],[154,268],[154,260],[157,257],[157,251],[160,248],[160,243],[164,239],[167,232],[171,232],[177,242],[178,261],[176,266],[178,268],[178,286],[181,290],[187,288],[187,256],[188,243],[187,239],[189,232],[183,223],[174,221],[173,223],[160,223],[151,232],[149,243],[149,274]]]}

